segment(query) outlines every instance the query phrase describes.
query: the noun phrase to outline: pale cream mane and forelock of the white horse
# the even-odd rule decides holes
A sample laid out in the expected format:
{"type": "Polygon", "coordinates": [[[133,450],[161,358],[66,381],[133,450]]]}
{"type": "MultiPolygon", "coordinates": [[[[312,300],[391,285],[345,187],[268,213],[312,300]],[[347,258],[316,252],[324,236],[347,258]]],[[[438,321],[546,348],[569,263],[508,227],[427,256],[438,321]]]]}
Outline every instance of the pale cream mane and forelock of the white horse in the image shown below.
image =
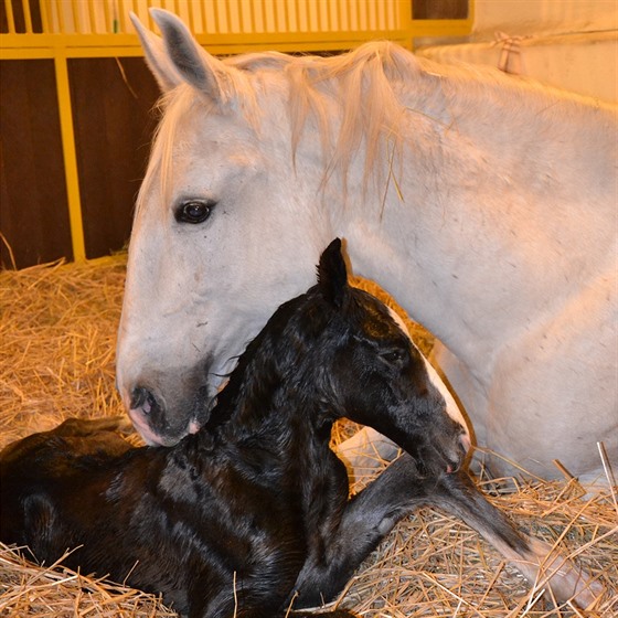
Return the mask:
{"type": "MultiPolygon", "coordinates": [[[[448,131],[458,130],[455,119],[461,111],[478,114],[482,109],[488,113],[488,107],[494,105],[493,113],[501,114],[500,102],[508,106],[509,114],[515,115],[518,98],[526,102],[525,105],[543,98],[547,106],[556,98],[572,103],[584,99],[498,71],[438,65],[385,41],[366,43],[347,54],[328,57],[277,52],[244,54],[224,60],[221,66],[225,71],[220,75],[224,84],[224,105],[198,96],[184,84],[161,98],[164,114],[138,204],[157,172],[169,170],[175,127],[191,107],[201,106],[204,114],[215,108],[219,113],[241,111],[258,134],[264,109],[258,105],[251,78],[258,72],[276,72],[287,77],[294,156],[308,122],[312,122],[321,141],[324,181],[337,172],[344,191],[351,160],[358,154],[364,158],[365,190],[370,180],[381,187],[386,177],[396,184],[393,169],[401,169],[406,143],[402,127],[407,124],[409,114],[448,131]],[[408,100],[403,100],[406,89],[408,100]],[[524,92],[525,97],[522,96],[524,92]],[[333,106],[339,108],[334,115],[333,106]]],[[[168,177],[169,173],[160,173],[163,194],[168,177]]]]}

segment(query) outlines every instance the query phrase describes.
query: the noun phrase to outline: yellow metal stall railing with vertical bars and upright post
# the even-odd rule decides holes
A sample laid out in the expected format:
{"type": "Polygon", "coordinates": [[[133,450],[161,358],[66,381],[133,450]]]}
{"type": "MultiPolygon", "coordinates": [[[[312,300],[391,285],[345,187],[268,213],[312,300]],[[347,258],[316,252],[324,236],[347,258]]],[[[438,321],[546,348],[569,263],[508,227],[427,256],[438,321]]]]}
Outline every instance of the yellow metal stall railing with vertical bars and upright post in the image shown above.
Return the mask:
{"type": "Polygon", "coordinates": [[[129,11],[154,29],[149,7],[179,14],[213,54],[345,50],[372,39],[408,49],[415,38],[466,36],[464,20],[414,20],[413,0],[0,0],[1,60],[54,61],[73,255],[86,259],[67,60],[139,56],[129,11]]]}

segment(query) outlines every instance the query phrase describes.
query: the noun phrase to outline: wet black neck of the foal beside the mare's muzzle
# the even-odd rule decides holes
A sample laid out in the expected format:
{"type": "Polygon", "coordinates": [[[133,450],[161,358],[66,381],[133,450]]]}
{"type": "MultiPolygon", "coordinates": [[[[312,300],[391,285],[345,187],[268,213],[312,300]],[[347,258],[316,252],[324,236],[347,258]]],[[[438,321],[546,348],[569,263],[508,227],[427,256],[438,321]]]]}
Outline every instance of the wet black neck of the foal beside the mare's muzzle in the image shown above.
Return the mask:
{"type": "Polygon", "coordinates": [[[238,466],[258,461],[290,491],[297,491],[298,477],[306,488],[328,476],[334,457],[334,414],[324,404],[329,363],[324,345],[317,344],[328,320],[312,310],[316,302],[310,290],[276,311],[239,358],[203,429],[230,448],[238,466]]]}

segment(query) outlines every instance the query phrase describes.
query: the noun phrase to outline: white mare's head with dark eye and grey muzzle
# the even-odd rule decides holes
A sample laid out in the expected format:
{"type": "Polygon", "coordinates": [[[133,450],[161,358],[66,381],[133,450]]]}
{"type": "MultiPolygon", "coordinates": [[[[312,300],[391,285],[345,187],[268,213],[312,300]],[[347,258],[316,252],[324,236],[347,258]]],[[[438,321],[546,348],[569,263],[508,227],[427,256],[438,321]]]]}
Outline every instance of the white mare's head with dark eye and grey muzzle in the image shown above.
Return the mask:
{"type": "MultiPolygon", "coordinates": [[[[163,116],[131,233],[117,384],[145,439],[172,445],[203,424],[201,402],[345,233],[342,195],[363,184],[362,170],[379,169],[379,153],[358,154],[361,145],[396,131],[379,114],[388,107],[384,88],[371,122],[340,109],[370,99],[369,75],[386,82],[387,44],[340,58],[220,61],[178,18],[151,14],[162,38],[134,22],[163,116]]],[[[382,195],[371,200],[375,216],[382,195]]]]}

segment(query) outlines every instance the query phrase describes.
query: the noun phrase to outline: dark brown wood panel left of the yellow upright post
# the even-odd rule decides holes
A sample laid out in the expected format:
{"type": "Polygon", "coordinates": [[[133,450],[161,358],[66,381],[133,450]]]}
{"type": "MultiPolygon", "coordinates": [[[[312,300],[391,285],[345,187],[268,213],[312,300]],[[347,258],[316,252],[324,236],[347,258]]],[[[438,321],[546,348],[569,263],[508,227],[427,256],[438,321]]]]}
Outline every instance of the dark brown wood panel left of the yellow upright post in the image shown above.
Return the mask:
{"type": "Polygon", "coordinates": [[[20,268],[72,259],[53,61],[0,62],[0,232],[20,268]]]}

